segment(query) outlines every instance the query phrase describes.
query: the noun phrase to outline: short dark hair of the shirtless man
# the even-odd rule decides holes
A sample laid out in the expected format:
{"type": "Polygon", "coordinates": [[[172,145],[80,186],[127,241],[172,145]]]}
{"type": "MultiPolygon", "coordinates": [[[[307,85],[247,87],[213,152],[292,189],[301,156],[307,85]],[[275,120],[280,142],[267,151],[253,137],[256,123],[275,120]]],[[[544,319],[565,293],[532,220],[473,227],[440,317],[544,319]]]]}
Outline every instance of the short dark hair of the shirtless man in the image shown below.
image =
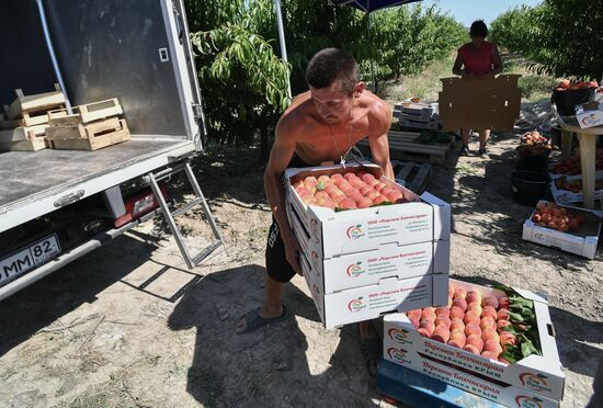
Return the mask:
{"type": "Polygon", "coordinates": [[[325,48],[315,54],[306,68],[306,82],[317,89],[339,81],[340,89],[353,93],[360,80],[360,69],[352,54],[339,48],[325,48]]]}

